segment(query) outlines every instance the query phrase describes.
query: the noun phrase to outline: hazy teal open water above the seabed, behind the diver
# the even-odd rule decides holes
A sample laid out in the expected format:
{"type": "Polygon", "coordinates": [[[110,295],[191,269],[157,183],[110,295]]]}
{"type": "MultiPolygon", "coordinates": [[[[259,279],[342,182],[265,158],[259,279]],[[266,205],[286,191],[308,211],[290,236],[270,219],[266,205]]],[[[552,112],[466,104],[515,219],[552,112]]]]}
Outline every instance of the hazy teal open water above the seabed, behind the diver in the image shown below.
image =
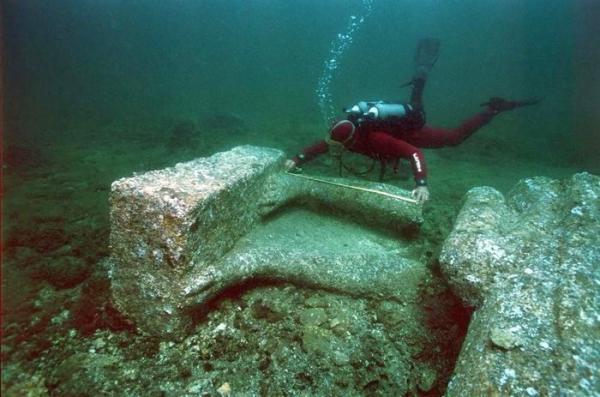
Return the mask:
{"type": "MultiPolygon", "coordinates": [[[[567,164],[587,144],[581,135],[597,133],[575,128],[586,118],[579,96],[593,82],[581,73],[581,63],[593,60],[577,57],[582,46],[595,50],[595,36],[578,31],[585,2],[7,1],[7,135],[56,126],[46,134],[60,142],[75,122],[196,121],[219,112],[259,129],[280,125],[277,134],[260,133],[276,142],[298,135],[294,123],[320,121],[315,89],[331,42],[351,15],[365,14],[365,4],[370,15],[334,71],[336,110],[364,98],[405,99],[416,41],[433,36],[442,52],[426,91],[431,122],[457,123],[492,95],[543,98],[543,106],[505,123],[503,134],[530,157],[556,158],[540,153],[538,145],[550,143],[567,164]]],[[[85,139],[85,129],[77,135],[85,139]]]]}

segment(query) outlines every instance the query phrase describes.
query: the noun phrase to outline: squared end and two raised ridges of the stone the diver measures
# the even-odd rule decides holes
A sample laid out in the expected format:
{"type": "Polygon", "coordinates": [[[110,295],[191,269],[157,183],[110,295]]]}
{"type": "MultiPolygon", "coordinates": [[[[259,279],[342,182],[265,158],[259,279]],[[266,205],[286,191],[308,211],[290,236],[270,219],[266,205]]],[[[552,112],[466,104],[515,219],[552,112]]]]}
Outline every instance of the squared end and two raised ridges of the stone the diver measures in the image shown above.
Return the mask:
{"type": "MultiPolygon", "coordinates": [[[[240,146],[113,183],[113,298],[138,328],[182,337],[191,307],[257,277],[401,297],[395,282],[422,270],[397,252],[344,257],[285,245],[236,247],[266,215],[290,202],[391,231],[422,221],[418,205],[285,174],[284,159],[278,150],[240,146]]],[[[382,184],[367,187],[407,195],[382,184]]]]}

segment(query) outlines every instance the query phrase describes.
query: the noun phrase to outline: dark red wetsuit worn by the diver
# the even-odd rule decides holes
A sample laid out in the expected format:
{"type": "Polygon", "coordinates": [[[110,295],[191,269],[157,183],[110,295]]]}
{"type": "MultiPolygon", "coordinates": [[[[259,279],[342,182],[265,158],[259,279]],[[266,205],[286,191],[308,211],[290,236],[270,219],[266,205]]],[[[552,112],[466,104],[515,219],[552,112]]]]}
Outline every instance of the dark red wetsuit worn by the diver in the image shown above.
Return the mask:
{"type": "MultiPolygon", "coordinates": [[[[419,148],[456,146],[487,124],[493,116],[492,112],[484,111],[465,120],[454,129],[425,125],[419,130],[404,130],[399,124],[378,125],[366,122],[356,128],[354,134],[352,134],[353,125],[349,121],[341,121],[333,126],[330,136],[333,140],[343,142],[344,146],[352,152],[364,154],[386,163],[398,159],[409,160],[417,185],[424,186],[427,184],[427,166],[423,152],[419,148]]],[[[327,142],[321,140],[306,147],[293,160],[300,165],[328,150],[327,142]]]]}

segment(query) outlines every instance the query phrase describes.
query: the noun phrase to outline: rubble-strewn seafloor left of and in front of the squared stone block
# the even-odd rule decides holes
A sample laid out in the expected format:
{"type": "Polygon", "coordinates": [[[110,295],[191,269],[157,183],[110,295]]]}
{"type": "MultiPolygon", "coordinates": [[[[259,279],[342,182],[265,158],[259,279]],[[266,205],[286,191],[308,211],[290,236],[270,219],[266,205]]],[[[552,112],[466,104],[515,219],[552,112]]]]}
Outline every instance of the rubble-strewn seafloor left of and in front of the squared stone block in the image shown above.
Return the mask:
{"type": "MultiPolygon", "coordinates": [[[[124,154],[116,166],[169,165],[159,157],[134,164],[124,154]]],[[[38,154],[14,161],[24,164],[5,172],[2,395],[446,391],[472,310],[448,287],[437,262],[460,188],[438,188],[446,202],[426,207],[420,233],[407,236],[424,269],[407,286],[413,299],[248,283],[224,291],[198,314],[187,338],[169,342],[138,333],[111,303],[103,267],[107,186],[126,172],[90,178],[103,161],[100,151],[88,153],[77,171],[38,154]]],[[[468,175],[462,179],[469,183],[468,175]]]]}

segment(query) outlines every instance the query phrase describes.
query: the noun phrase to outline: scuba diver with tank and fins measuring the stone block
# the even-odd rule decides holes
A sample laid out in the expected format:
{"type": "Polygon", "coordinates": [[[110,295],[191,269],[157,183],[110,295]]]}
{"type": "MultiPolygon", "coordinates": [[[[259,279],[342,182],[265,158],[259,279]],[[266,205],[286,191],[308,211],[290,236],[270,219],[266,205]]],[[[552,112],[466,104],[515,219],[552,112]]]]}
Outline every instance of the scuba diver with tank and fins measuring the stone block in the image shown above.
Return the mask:
{"type": "Polygon", "coordinates": [[[485,107],[483,111],[465,120],[457,128],[444,129],[425,125],[423,90],[427,75],[437,61],[439,47],[439,40],[434,38],[419,41],[415,53],[415,72],[411,81],[405,84],[412,86],[408,103],[361,101],[344,109],[346,118],[333,125],[329,136],[287,160],[286,170],[299,167],[329,151],[338,157],[341,172],[342,168],[348,168],[342,162],[342,154],[349,150],[379,161],[379,176],[382,179],[387,164],[393,164],[394,171],[397,171],[399,160],[406,159],[410,161],[416,183],[411,195],[422,204],[429,199],[429,190],[427,166],[421,148],[456,146],[499,113],[539,102],[537,99],[511,101],[493,97],[481,104],[485,107]]]}

